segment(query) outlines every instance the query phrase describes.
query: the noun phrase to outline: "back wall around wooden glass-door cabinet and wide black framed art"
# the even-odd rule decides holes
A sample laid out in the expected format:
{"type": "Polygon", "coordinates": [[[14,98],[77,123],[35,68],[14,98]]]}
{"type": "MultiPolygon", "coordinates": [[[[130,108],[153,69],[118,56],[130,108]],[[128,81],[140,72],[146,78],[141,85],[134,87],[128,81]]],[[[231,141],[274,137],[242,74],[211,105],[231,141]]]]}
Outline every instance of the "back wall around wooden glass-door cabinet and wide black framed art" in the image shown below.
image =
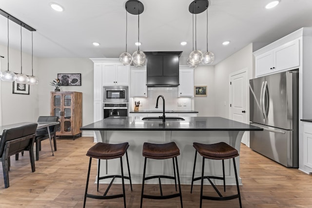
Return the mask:
{"type": "Polygon", "coordinates": [[[82,125],[93,122],[93,62],[89,58],[40,58],[38,102],[40,115],[50,115],[50,92],[54,86],[49,83],[58,73],[81,74],[81,86],[61,86],[60,91],[82,93],[82,125]]]}

